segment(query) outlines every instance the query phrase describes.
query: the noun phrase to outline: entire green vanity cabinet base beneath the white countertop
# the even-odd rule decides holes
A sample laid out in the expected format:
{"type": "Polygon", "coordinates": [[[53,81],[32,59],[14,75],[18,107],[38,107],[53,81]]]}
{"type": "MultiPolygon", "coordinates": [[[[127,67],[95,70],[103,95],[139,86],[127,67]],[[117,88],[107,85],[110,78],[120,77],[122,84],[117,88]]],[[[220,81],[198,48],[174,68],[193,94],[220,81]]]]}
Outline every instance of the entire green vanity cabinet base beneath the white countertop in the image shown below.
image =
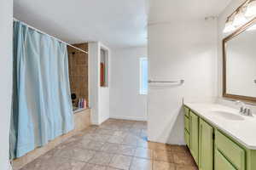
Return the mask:
{"type": "Polygon", "coordinates": [[[247,149],[189,107],[184,111],[185,142],[200,170],[256,170],[256,150],[247,149]]]}

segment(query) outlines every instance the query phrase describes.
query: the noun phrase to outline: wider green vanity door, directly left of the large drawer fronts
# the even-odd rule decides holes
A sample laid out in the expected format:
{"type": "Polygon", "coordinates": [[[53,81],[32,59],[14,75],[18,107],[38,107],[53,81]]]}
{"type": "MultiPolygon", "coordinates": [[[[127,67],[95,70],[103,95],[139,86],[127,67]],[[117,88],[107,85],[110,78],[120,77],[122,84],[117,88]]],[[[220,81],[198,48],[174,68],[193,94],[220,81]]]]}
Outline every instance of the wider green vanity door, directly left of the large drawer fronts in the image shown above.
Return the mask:
{"type": "Polygon", "coordinates": [[[199,121],[199,169],[213,170],[213,127],[199,121]]]}

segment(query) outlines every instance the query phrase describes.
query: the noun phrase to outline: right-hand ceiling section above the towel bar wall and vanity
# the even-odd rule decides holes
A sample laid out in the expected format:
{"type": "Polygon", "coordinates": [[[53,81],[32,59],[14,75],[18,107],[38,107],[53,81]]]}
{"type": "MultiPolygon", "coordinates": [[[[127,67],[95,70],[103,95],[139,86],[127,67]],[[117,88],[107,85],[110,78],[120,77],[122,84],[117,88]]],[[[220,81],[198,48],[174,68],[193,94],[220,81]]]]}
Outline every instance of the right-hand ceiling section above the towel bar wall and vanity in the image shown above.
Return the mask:
{"type": "Polygon", "coordinates": [[[218,16],[231,0],[149,0],[149,23],[218,16]]]}

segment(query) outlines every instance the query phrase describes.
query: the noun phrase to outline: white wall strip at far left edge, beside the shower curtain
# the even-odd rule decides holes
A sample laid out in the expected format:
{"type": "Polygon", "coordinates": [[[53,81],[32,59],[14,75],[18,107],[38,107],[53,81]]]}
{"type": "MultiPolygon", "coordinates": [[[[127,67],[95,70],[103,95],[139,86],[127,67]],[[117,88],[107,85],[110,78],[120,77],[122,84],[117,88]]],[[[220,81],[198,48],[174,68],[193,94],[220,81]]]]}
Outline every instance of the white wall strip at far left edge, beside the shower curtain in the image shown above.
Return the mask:
{"type": "Polygon", "coordinates": [[[13,1],[0,2],[0,169],[9,169],[9,118],[12,94],[13,1]]]}

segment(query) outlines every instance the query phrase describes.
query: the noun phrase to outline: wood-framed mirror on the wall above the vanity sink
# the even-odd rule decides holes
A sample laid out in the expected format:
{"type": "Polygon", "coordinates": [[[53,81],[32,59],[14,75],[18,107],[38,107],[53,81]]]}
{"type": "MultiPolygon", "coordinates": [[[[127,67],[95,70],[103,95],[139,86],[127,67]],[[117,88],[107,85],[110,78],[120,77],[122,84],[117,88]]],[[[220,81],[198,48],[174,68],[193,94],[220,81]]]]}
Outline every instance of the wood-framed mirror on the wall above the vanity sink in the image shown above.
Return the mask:
{"type": "Polygon", "coordinates": [[[256,102],[256,20],[223,41],[224,97],[256,102]]]}

